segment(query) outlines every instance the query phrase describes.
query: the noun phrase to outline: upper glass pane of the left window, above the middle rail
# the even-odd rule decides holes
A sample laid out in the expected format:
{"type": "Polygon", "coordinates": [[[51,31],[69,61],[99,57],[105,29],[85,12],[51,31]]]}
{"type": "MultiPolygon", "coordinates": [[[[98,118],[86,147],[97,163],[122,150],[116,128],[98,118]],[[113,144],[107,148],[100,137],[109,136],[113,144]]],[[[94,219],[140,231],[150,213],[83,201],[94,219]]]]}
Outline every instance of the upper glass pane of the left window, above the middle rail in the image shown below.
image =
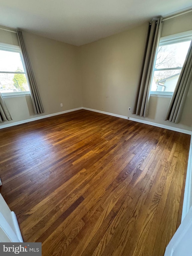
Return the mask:
{"type": "Polygon", "coordinates": [[[0,71],[24,72],[20,53],[0,50],[0,71]]]}

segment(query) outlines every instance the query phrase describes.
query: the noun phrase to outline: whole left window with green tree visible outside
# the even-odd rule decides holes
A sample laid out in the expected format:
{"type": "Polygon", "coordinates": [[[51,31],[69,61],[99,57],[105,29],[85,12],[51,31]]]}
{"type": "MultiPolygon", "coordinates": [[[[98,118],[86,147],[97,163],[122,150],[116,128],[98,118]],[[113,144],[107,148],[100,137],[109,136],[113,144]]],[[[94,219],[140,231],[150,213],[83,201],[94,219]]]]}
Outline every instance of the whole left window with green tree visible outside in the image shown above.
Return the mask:
{"type": "Polygon", "coordinates": [[[0,92],[2,95],[29,93],[21,51],[18,46],[0,44],[0,92]]]}

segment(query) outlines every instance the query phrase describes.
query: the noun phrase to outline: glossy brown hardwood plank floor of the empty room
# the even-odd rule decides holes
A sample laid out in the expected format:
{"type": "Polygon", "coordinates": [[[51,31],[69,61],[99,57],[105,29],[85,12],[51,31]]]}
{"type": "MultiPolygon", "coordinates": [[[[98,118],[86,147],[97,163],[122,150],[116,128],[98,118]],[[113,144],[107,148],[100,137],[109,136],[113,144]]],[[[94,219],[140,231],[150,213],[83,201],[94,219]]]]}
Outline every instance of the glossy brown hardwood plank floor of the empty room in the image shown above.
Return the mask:
{"type": "Polygon", "coordinates": [[[1,194],[42,255],[163,256],[190,135],[78,110],[0,130],[1,194]]]}

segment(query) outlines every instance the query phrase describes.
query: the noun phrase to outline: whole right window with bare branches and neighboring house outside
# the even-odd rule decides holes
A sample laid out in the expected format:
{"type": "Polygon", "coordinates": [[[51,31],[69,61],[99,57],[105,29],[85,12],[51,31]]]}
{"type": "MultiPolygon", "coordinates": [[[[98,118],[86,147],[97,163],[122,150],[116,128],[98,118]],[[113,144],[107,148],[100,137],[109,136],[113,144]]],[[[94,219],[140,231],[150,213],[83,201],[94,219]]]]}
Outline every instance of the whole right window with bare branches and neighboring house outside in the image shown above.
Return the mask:
{"type": "Polygon", "coordinates": [[[191,35],[184,34],[161,38],[151,94],[173,94],[192,38],[191,35]]]}

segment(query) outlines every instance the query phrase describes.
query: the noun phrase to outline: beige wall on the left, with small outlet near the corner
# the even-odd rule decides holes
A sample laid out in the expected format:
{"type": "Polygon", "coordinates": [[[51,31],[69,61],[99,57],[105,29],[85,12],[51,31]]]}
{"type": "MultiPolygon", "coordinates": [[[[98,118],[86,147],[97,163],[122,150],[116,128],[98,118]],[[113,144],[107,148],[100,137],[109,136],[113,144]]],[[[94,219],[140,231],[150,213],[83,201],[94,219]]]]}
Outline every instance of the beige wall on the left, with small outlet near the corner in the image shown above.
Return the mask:
{"type": "MultiPolygon", "coordinates": [[[[5,98],[11,122],[82,107],[77,47],[27,32],[23,36],[45,113],[34,114],[30,96],[5,98]]],[[[18,45],[17,35],[3,30],[0,30],[0,41],[18,45]]]]}

